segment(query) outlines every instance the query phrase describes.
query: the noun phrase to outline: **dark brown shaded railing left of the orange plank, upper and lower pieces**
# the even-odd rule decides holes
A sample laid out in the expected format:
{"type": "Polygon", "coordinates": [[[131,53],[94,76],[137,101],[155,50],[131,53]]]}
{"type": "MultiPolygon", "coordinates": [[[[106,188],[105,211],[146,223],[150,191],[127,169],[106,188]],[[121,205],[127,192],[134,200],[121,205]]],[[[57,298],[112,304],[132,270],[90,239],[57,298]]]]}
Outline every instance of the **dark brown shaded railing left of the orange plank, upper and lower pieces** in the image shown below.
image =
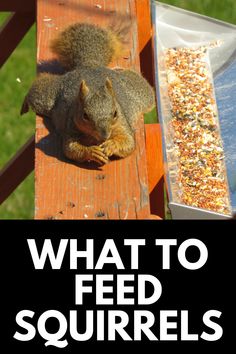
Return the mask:
{"type": "MultiPolygon", "coordinates": [[[[34,0],[1,0],[0,12],[11,14],[0,27],[0,68],[35,22],[34,0]]],[[[34,169],[34,136],[0,171],[0,204],[34,169]]]]}

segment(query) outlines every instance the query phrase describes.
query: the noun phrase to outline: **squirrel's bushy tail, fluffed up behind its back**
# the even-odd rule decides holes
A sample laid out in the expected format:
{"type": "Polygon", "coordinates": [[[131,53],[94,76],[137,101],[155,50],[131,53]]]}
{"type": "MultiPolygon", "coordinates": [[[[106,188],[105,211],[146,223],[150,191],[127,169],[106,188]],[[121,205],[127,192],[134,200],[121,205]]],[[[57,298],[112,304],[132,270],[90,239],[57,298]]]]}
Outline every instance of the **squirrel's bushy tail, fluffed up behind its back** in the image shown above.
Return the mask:
{"type": "Polygon", "coordinates": [[[52,41],[51,49],[69,70],[80,66],[107,66],[122,54],[127,32],[125,25],[103,29],[76,23],[52,41]]]}

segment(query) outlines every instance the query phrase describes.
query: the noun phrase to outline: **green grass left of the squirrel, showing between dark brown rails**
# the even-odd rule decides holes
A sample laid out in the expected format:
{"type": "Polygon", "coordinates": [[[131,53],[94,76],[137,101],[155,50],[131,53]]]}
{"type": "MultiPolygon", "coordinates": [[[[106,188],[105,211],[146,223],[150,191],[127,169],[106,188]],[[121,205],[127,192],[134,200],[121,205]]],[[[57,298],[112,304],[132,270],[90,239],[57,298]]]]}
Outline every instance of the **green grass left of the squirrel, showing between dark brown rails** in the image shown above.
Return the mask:
{"type": "MultiPolygon", "coordinates": [[[[0,14],[0,26],[7,16],[8,14],[0,14]]],[[[35,76],[35,52],[33,27],[0,70],[0,168],[34,133],[34,114],[20,117],[19,112],[35,76]]],[[[29,219],[33,217],[33,212],[32,173],[0,206],[0,219],[29,219]]]]}

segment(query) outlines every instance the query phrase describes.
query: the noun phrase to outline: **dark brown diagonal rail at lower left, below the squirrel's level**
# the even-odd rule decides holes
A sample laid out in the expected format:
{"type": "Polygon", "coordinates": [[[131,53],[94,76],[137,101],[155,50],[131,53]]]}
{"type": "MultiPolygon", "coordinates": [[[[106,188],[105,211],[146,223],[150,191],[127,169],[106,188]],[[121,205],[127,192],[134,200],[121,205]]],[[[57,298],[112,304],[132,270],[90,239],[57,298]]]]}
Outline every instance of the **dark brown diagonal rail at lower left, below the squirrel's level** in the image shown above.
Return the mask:
{"type": "Polygon", "coordinates": [[[0,204],[34,169],[34,135],[0,171],[0,204]]]}

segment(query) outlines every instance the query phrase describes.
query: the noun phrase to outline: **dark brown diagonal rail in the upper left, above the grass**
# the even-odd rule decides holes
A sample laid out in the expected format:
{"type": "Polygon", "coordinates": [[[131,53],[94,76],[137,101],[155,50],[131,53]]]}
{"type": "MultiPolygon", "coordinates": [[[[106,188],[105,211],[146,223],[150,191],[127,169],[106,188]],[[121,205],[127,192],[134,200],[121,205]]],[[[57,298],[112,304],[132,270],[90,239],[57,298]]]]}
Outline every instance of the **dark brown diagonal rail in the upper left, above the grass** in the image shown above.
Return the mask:
{"type": "Polygon", "coordinates": [[[0,68],[35,21],[34,12],[13,13],[0,28],[0,68]]]}

